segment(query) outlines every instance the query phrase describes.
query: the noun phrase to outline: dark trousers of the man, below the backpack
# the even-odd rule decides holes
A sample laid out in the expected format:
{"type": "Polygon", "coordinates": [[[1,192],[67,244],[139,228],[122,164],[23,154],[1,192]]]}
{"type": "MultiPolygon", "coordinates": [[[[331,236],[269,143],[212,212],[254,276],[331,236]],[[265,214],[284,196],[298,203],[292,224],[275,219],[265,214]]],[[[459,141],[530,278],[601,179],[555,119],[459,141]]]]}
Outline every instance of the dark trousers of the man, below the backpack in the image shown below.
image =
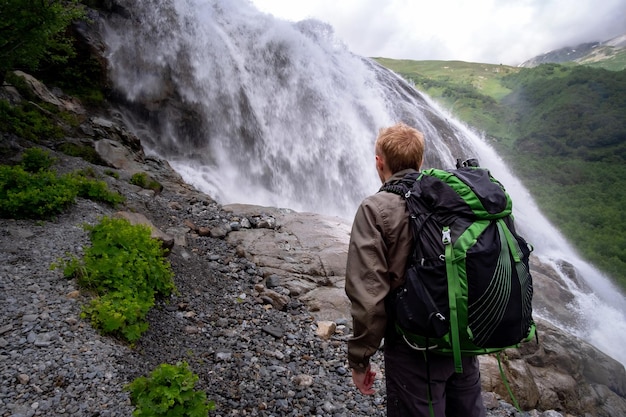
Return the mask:
{"type": "MultiPolygon", "coordinates": [[[[436,417],[485,417],[476,357],[463,358],[463,373],[452,357],[428,354],[436,417]]],[[[423,352],[397,341],[385,345],[387,417],[429,417],[428,376],[423,352]]]]}

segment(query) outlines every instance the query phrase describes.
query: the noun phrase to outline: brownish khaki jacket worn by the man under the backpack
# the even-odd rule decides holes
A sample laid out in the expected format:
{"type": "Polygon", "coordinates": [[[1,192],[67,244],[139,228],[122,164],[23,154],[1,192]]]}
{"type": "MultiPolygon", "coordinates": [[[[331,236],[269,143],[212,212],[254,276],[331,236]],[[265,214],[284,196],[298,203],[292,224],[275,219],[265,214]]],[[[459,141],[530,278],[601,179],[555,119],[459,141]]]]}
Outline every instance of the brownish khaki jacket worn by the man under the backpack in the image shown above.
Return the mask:
{"type": "MultiPolygon", "coordinates": [[[[414,170],[394,174],[387,182],[414,170]]],[[[353,336],[348,340],[348,363],[365,371],[387,327],[385,297],[404,282],[412,249],[408,210],[402,197],[379,192],[359,206],[352,224],[346,294],[352,302],[353,336]]]]}

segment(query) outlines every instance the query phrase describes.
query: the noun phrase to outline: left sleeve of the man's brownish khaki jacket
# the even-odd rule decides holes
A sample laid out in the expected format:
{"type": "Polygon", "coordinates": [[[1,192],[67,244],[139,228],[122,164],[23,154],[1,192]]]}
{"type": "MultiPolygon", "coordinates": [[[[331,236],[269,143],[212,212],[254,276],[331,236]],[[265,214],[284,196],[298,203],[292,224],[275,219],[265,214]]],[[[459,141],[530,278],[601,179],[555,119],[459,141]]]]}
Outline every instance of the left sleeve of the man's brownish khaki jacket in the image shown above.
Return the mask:
{"type": "Polygon", "coordinates": [[[385,297],[390,283],[386,225],[375,199],[366,199],[355,215],[348,247],[346,294],[350,299],[353,336],[348,340],[351,368],[364,371],[385,334],[385,297]]]}

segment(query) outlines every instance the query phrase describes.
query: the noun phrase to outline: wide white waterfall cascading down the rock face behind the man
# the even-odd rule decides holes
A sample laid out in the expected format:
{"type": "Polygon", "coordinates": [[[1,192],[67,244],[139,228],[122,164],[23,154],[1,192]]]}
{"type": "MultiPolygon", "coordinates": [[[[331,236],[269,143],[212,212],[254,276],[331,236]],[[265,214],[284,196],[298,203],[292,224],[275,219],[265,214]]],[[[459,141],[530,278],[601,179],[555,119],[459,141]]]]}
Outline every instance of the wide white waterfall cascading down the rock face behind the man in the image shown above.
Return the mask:
{"type": "Polygon", "coordinates": [[[561,271],[575,295],[568,330],[626,364],[623,295],[576,255],[485,141],[428,97],[316,20],[277,20],[246,0],[130,3],[102,29],[120,114],[185,181],[221,203],[351,219],[380,186],[378,129],[404,121],[425,134],[425,167],[477,157],[505,185],[537,256],[558,271],[563,260],[573,265],[593,290],[561,271]]]}

